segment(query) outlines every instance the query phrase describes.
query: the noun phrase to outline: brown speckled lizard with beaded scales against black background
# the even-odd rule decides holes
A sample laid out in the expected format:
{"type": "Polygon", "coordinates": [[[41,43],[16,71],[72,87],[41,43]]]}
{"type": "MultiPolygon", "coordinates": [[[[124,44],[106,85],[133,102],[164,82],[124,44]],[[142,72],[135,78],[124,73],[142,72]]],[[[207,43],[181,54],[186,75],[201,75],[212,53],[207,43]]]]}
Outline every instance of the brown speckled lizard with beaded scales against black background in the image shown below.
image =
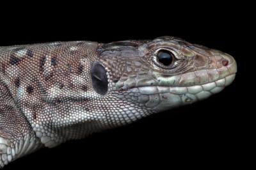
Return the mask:
{"type": "Polygon", "coordinates": [[[208,98],[236,72],[229,54],[172,36],[0,47],[0,167],[208,98]]]}

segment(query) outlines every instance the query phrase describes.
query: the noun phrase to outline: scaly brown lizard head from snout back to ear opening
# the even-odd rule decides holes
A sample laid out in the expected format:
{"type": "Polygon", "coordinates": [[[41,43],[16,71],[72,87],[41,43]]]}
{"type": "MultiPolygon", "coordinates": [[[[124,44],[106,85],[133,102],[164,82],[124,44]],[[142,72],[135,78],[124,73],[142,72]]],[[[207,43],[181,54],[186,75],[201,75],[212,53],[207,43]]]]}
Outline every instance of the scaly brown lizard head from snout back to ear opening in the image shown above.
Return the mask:
{"type": "Polygon", "coordinates": [[[92,76],[96,80],[93,87],[101,84],[95,89],[102,95],[148,112],[191,104],[218,93],[234,80],[237,71],[232,56],[170,36],[107,43],[98,52],[100,58],[93,68],[101,68],[99,76],[108,75],[103,85],[92,76]]]}

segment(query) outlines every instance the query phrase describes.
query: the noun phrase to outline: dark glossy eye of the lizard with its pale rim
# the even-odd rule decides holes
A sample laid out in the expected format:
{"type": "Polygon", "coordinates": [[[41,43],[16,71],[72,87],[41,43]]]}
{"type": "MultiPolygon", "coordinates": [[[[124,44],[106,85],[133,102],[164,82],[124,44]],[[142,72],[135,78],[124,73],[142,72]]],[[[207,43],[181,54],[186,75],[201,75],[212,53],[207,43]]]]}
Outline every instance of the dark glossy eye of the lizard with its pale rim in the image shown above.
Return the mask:
{"type": "Polygon", "coordinates": [[[154,57],[154,63],[163,69],[173,69],[180,64],[180,59],[177,59],[175,56],[176,52],[173,50],[161,49],[156,52],[154,57]]]}

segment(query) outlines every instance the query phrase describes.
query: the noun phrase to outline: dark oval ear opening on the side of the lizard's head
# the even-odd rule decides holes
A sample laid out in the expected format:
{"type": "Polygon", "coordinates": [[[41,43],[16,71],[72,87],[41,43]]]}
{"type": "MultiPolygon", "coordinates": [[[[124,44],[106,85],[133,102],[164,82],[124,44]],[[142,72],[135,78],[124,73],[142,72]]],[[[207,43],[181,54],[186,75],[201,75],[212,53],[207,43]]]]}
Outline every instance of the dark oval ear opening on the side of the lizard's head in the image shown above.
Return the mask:
{"type": "Polygon", "coordinates": [[[104,66],[95,62],[92,65],[92,86],[100,95],[106,95],[108,91],[108,75],[104,66]]]}

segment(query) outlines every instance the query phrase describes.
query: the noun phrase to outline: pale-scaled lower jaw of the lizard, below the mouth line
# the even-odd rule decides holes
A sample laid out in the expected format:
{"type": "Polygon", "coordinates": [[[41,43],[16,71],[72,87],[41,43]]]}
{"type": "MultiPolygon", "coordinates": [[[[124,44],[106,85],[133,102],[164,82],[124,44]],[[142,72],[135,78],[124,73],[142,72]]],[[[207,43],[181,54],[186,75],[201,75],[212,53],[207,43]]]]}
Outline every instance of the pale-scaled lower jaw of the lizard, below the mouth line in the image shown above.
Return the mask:
{"type": "Polygon", "coordinates": [[[154,111],[165,111],[179,105],[191,104],[219,93],[231,84],[235,77],[236,73],[232,73],[217,81],[195,86],[141,86],[128,89],[118,97],[136,101],[136,103],[143,104],[154,111]]]}

